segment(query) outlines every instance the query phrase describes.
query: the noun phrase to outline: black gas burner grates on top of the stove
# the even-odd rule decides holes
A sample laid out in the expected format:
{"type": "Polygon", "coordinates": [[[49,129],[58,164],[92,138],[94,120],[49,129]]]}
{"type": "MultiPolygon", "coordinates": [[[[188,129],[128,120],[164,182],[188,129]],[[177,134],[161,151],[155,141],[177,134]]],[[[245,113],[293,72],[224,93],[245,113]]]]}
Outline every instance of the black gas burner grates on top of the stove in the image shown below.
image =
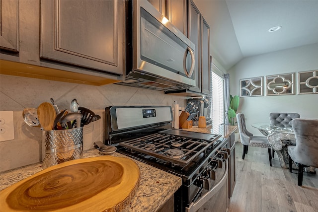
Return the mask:
{"type": "Polygon", "coordinates": [[[207,148],[212,148],[213,143],[219,137],[216,136],[211,140],[204,140],[155,133],[130,141],[124,141],[119,143],[119,145],[185,166],[199,154],[204,153],[207,148]]]}

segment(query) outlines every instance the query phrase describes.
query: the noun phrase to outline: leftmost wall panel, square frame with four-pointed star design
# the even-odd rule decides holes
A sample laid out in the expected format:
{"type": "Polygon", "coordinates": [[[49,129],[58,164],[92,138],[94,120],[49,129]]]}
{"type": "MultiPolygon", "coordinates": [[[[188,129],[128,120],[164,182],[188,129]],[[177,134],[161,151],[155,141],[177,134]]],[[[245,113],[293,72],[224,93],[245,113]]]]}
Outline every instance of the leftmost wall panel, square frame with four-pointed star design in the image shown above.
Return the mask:
{"type": "Polygon", "coordinates": [[[263,76],[240,79],[240,96],[262,96],[263,95],[263,76]]]}

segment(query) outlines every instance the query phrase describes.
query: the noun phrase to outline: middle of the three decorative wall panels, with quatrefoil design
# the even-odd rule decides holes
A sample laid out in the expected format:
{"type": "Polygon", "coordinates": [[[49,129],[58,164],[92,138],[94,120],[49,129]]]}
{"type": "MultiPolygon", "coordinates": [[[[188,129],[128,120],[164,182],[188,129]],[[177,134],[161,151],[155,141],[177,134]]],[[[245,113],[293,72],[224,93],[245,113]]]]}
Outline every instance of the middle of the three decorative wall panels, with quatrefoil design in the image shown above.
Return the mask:
{"type": "Polygon", "coordinates": [[[294,95],[295,73],[266,76],[266,96],[294,95]]]}

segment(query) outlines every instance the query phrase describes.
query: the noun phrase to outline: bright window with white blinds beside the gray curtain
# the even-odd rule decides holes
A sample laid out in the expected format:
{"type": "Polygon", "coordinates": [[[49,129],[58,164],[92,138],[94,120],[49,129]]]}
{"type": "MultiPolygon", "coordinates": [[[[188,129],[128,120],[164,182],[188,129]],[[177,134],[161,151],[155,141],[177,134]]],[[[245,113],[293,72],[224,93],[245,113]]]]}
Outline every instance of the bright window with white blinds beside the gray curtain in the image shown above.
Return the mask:
{"type": "Polygon", "coordinates": [[[213,125],[224,124],[224,80],[223,72],[220,71],[211,60],[211,117],[213,125]]]}

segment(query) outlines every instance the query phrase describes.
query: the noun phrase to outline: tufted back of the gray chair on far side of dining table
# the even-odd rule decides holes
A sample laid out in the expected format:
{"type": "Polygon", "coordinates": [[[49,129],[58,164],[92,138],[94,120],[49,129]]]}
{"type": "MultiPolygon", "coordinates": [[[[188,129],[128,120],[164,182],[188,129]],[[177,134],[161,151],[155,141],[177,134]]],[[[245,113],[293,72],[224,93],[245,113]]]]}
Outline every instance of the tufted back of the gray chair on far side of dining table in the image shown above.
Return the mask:
{"type": "Polygon", "coordinates": [[[298,113],[270,113],[270,123],[279,127],[292,127],[292,120],[300,118],[298,113]]]}

